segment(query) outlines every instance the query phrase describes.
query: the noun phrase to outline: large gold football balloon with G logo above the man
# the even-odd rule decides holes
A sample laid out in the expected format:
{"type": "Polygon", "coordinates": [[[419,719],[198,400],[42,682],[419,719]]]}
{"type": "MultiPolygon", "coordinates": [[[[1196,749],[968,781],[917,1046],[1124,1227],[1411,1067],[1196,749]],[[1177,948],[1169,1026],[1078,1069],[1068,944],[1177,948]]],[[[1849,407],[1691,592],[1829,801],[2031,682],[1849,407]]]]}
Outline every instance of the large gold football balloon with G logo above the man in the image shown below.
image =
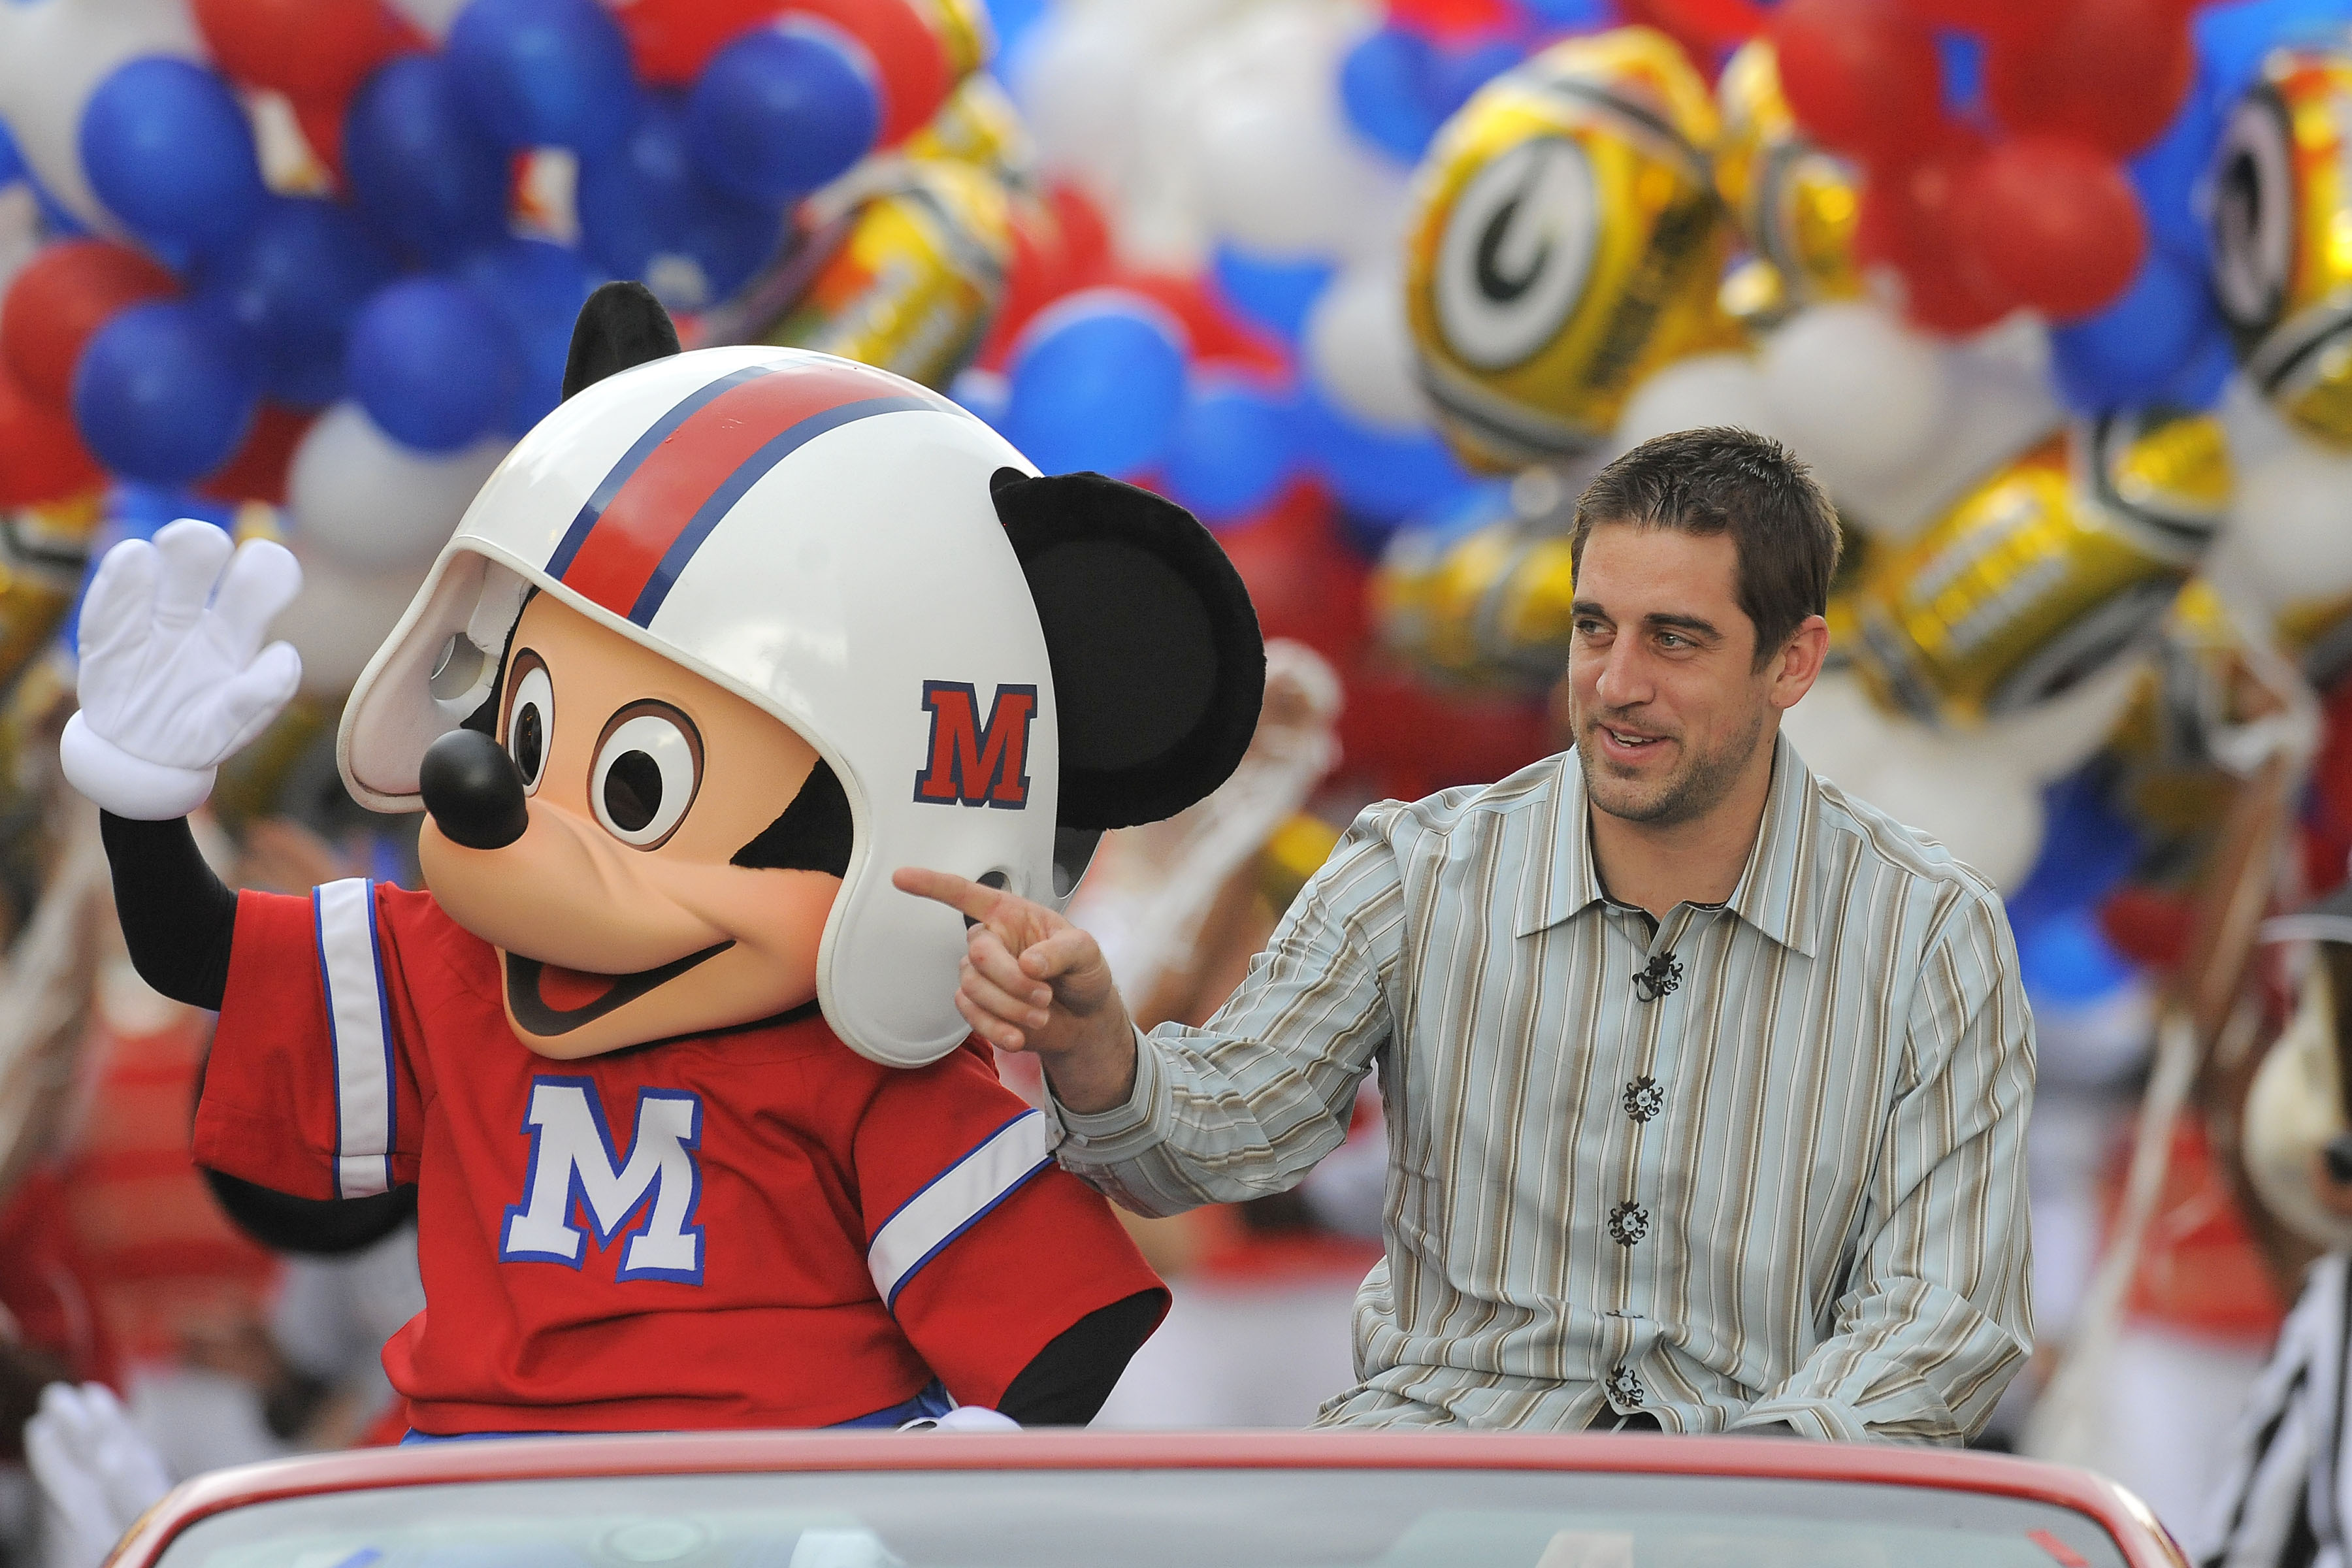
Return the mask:
{"type": "Polygon", "coordinates": [[[1486,82],[1414,181],[1404,301],[1463,461],[1597,447],[1632,386],[1722,331],[1715,101],[1682,49],[1618,28],[1486,82]]]}

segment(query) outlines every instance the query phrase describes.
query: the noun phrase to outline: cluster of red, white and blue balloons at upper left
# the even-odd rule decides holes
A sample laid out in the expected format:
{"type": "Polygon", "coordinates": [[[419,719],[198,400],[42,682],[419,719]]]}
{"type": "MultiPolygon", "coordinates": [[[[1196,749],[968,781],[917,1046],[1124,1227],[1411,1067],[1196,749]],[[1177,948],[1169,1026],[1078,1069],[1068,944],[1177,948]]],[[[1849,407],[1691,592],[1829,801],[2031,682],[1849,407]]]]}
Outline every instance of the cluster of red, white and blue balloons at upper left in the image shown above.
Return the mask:
{"type": "MultiPolygon", "coordinates": [[[[774,336],[797,313],[814,339],[870,317],[835,252],[955,183],[915,143],[988,40],[978,0],[9,5],[0,505],[108,484],[167,512],[282,505],[252,527],[306,559],[280,630],[332,693],[555,407],[597,282],[644,280],[689,334],[779,275],[833,294],[771,287],[724,324],[774,336]]],[[[1002,193],[969,181],[957,237],[1002,249],[1002,193]]],[[[941,381],[1002,254],[964,270],[941,381]]]]}

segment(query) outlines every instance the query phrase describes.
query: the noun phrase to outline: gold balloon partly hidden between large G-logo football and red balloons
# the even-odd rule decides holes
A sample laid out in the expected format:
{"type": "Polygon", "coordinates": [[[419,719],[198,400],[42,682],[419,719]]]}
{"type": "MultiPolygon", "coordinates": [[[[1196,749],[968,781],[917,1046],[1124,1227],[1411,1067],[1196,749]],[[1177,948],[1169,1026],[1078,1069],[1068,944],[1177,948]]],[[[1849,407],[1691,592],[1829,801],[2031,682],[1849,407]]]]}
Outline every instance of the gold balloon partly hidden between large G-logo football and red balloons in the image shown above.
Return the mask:
{"type": "Polygon", "coordinates": [[[1748,247],[1778,273],[1783,308],[1860,299],[1863,273],[1853,263],[1860,181],[1846,160],[1797,129],[1769,38],[1740,45],[1715,96],[1724,118],[1715,188],[1748,247]]]}

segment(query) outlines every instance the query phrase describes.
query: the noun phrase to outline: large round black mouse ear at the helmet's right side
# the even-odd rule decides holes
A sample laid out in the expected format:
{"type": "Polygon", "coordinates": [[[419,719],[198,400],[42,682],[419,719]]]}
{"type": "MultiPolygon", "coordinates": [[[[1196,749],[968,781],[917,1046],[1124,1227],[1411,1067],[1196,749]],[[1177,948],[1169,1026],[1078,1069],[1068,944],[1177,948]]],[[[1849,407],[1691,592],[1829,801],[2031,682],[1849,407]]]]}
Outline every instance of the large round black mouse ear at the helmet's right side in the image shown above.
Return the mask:
{"type": "Polygon", "coordinates": [[[1000,468],[988,489],[1054,663],[1061,823],[1157,823],[1225,783],[1258,729],[1265,644],[1209,529],[1098,473],[1000,468]]]}

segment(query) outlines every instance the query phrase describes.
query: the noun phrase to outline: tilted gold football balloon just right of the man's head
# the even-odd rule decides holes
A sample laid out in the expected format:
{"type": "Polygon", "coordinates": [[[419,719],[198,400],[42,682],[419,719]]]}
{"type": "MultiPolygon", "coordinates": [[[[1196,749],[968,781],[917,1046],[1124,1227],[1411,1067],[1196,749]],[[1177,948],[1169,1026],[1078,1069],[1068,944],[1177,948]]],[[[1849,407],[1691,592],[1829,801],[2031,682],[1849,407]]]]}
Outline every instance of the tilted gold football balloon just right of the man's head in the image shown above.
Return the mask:
{"type": "Polygon", "coordinates": [[[2065,691],[2147,635],[2230,503],[2220,421],[2112,414],[1969,489],[1853,595],[1875,696],[1973,722],[2065,691]]]}

